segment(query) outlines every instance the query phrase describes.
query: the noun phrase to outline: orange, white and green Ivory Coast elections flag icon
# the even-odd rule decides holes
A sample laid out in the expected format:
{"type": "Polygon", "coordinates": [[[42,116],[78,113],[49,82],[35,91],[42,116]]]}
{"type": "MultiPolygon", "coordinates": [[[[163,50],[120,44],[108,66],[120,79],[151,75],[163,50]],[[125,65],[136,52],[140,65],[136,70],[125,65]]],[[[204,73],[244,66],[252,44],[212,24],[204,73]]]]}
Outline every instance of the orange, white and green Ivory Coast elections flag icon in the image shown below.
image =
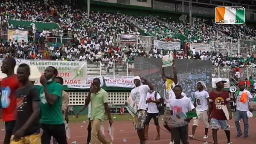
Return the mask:
{"type": "Polygon", "coordinates": [[[245,9],[242,6],[218,6],[215,8],[215,23],[243,24],[245,9]]]}

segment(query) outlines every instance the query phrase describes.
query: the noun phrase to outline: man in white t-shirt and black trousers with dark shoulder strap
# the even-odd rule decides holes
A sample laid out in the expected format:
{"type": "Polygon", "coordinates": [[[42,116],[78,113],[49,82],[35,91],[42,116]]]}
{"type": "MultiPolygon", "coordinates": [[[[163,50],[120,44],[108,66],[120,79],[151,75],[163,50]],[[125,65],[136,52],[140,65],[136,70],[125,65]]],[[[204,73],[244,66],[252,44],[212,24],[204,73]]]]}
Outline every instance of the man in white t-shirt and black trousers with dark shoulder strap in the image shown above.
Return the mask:
{"type": "Polygon", "coordinates": [[[154,119],[154,124],[157,126],[157,137],[154,140],[160,139],[160,126],[158,123],[159,110],[157,104],[161,103],[160,95],[158,92],[150,91],[147,93],[146,104],[148,104],[148,110],[145,121],[145,139],[148,139],[148,125],[151,118],[154,119]]]}

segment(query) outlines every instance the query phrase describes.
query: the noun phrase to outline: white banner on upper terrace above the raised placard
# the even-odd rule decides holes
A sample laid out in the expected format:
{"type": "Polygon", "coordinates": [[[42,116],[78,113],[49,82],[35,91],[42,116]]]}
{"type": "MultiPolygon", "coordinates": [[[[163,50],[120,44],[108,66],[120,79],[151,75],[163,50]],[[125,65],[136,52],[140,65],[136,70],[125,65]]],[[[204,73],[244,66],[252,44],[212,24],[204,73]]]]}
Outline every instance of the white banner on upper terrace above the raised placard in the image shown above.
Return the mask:
{"type": "Polygon", "coordinates": [[[154,40],[154,47],[157,49],[165,49],[165,50],[180,50],[180,42],[170,42],[166,43],[160,40],[154,40]]]}

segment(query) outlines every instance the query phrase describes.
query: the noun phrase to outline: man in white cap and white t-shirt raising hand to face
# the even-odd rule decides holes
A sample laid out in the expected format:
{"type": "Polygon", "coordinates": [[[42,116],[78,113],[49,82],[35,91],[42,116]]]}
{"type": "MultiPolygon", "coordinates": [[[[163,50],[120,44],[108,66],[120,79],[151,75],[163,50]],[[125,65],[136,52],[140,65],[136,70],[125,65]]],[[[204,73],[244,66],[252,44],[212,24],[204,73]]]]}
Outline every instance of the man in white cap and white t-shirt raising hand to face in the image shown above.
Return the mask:
{"type": "Polygon", "coordinates": [[[131,90],[130,97],[136,104],[137,112],[134,116],[134,124],[137,129],[138,136],[140,138],[140,144],[145,144],[145,119],[147,114],[146,96],[150,90],[154,89],[154,86],[150,84],[145,78],[136,76],[134,77],[135,88],[131,90]],[[142,84],[144,81],[144,84],[142,84]]]}

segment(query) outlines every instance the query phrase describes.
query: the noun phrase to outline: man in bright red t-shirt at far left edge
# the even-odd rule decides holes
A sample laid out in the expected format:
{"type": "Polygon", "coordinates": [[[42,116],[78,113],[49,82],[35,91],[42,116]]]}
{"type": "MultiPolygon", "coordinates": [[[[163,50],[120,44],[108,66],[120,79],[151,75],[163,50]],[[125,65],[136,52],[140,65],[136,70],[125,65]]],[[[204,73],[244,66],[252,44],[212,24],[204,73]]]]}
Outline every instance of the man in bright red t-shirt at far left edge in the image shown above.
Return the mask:
{"type": "Polygon", "coordinates": [[[3,121],[5,122],[6,134],[3,144],[10,144],[12,130],[17,117],[17,104],[15,91],[19,87],[17,75],[14,74],[16,61],[14,58],[3,59],[1,71],[7,75],[1,82],[1,107],[3,108],[3,121]]]}

